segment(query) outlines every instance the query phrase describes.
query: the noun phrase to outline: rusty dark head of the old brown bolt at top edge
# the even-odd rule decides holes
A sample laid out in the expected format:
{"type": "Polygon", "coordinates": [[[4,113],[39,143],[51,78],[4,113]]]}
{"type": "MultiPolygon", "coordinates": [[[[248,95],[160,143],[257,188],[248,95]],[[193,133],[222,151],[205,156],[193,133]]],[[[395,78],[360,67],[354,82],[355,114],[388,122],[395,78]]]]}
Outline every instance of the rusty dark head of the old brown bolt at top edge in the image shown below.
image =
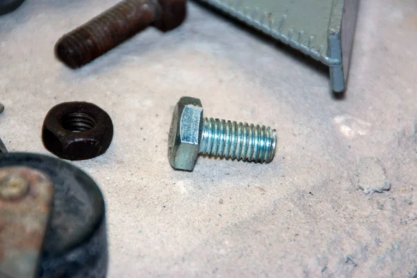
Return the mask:
{"type": "Polygon", "coordinates": [[[153,25],[159,30],[171,31],[186,19],[186,0],[158,0],[158,3],[161,6],[161,16],[153,25]]]}

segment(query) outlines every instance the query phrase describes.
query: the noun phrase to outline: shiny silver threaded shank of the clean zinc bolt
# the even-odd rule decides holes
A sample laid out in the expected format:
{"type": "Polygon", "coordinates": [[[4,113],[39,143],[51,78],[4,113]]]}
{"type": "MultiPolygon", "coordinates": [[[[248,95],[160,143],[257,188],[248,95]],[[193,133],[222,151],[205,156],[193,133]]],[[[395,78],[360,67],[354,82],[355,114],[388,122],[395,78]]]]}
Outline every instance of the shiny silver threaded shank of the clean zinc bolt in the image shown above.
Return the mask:
{"type": "Polygon", "coordinates": [[[274,158],[277,132],[269,126],[204,118],[199,154],[259,163],[274,158]]]}

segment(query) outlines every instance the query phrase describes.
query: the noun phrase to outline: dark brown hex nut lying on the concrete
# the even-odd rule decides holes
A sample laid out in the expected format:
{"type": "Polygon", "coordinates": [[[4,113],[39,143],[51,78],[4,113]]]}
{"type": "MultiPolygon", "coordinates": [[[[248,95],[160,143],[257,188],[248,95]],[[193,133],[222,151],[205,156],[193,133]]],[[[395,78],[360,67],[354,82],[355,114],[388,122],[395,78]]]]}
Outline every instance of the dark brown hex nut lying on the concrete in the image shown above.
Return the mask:
{"type": "Polygon", "coordinates": [[[42,128],[44,147],[70,161],[104,154],[113,138],[113,122],[88,102],[64,102],[49,110],[42,128]]]}

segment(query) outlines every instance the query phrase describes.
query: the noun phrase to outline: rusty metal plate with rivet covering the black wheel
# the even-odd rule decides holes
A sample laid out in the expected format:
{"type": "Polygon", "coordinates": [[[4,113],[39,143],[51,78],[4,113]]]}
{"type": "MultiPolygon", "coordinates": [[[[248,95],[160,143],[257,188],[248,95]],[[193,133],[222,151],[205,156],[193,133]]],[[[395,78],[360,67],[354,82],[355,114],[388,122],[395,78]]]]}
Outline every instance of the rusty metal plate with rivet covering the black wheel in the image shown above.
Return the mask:
{"type": "Polygon", "coordinates": [[[35,277],[53,196],[44,173],[0,168],[0,277],[35,277]]]}

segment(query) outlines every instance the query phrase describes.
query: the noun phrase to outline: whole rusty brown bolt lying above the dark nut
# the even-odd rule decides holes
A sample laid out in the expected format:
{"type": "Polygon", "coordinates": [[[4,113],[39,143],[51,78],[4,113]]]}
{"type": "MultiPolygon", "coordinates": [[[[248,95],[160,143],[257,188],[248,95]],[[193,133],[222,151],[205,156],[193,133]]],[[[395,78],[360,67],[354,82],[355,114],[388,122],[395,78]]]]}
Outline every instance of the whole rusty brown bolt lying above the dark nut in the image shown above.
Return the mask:
{"type": "Polygon", "coordinates": [[[69,67],[81,67],[150,24],[165,32],[185,17],[186,0],[124,0],[60,38],[56,56],[69,67]]]}

